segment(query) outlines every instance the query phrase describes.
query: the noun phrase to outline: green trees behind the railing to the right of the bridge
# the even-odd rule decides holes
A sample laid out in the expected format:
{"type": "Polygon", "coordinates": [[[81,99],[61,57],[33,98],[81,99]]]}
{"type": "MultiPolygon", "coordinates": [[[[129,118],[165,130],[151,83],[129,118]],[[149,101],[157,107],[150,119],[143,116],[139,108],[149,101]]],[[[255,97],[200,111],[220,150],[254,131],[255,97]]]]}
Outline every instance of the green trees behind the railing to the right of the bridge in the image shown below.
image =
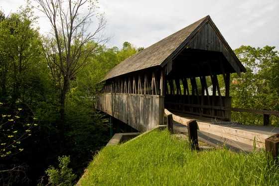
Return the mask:
{"type": "MultiPolygon", "coordinates": [[[[279,111],[279,53],[275,47],[241,46],[235,50],[247,72],[231,76],[232,106],[279,111]]],[[[232,118],[245,124],[263,124],[261,115],[233,113],[232,118]]],[[[278,125],[279,119],[273,119],[278,125]]]]}

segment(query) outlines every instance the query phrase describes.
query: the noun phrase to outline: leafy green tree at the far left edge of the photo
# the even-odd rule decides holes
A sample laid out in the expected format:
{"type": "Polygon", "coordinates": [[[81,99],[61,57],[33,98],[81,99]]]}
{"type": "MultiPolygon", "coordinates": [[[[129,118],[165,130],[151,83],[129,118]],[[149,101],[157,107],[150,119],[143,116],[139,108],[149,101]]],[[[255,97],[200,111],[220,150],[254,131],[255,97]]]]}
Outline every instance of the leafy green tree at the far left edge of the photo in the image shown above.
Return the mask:
{"type": "Polygon", "coordinates": [[[33,26],[35,21],[28,6],[0,21],[1,98],[11,95],[13,105],[19,99],[22,101],[24,84],[40,61],[41,41],[38,29],[33,26]]]}

